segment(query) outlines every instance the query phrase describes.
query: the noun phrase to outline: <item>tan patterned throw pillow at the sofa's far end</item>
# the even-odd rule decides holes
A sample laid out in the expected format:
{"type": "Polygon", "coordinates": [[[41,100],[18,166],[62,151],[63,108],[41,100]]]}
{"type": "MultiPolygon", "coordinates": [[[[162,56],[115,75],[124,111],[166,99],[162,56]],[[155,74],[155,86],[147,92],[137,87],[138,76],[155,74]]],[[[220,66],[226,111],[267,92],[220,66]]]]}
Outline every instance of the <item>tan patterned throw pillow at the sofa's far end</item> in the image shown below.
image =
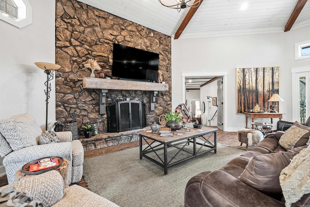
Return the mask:
{"type": "Polygon", "coordinates": [[[279,140],[279,145],[284,149],[293,149],[306,145],[310,136],[310,127],[294,122],[293,126],[285,131],[279,140]]]}

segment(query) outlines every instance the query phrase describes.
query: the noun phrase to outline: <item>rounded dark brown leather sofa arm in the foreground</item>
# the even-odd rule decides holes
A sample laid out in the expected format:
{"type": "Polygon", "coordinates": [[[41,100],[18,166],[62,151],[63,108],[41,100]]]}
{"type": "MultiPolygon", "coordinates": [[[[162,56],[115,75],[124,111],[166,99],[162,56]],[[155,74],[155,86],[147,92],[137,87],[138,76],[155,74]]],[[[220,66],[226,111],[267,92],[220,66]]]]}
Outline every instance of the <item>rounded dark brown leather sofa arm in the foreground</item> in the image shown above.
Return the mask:
{"type": "Polygon", "coordinates": [[[185,207],[284,207],[284,204],[259,192],[232,175],[216,170],[185,190],[185,207]]]}

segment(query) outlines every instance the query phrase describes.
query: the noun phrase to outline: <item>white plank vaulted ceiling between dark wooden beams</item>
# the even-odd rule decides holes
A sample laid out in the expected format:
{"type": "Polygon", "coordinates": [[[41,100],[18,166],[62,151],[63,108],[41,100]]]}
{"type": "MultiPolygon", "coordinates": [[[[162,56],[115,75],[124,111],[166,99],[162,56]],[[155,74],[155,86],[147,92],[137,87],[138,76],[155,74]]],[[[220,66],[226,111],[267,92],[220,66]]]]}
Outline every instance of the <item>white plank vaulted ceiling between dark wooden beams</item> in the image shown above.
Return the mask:
{"type": "MultiPolygon", "coordinates": [[[[158,0],[80,0],[113,15],[174,36],[189,8],[180,13],[158,0]]],[[[175,3],[175,0],[167,0],[175,3]]],[[[193,0],[194,1],[194,0],[193,0]]],[[[180,38],[283,32],[298,0],[203,0],[180,38]],[[241,11],[242,3],[248,8],[241,11]]],[[[296,19],[294,28],[310,25],[310,1],[296,19]]]]}

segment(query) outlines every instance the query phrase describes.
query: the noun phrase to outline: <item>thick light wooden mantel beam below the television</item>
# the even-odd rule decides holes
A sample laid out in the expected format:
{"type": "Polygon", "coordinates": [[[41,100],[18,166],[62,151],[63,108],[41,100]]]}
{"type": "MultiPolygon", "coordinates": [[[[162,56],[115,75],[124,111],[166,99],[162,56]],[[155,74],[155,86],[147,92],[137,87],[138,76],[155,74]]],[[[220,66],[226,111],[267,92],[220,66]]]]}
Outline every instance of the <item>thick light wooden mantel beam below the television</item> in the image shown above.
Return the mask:
{"type": "Polygon", "coordinates": [[[83,88],[136,91],[168,91],[168,84],[131,80],[83,78],[83,88]]]}

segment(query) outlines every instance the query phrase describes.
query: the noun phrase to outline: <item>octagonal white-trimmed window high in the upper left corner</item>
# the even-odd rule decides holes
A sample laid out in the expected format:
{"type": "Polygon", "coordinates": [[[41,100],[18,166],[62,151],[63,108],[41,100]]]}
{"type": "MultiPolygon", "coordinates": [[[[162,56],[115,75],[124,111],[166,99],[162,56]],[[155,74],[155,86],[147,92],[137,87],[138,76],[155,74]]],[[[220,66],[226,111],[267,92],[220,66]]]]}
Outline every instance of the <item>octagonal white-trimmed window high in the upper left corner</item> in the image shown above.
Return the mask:
{"type": "Polygon", "coordinates": [[[0,0],[0,19],[18,28],[32,23],[32,8],[28,0],[0,0]]]}

